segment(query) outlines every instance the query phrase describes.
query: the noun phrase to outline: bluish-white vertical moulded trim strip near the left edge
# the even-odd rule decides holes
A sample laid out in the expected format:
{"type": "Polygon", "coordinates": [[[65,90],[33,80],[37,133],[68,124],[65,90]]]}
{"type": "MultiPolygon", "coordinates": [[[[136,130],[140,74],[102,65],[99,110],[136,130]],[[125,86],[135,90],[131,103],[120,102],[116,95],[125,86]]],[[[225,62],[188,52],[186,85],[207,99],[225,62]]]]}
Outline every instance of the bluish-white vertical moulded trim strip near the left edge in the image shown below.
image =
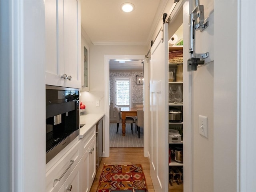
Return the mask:
{"type": "Polygon", "coordinates": [[[12,135],[12,191],[24,189],[24,52],[23,52],[23,1],[11,2],[12,4],[12,62],[11,63],[11,135],[12,135]],[[16,31],[16,32],[15,32],[16,31]],[[14,107],[15,106],[15,107],[14,107]],[[19,125],[19,126],[17,126],[19,125]]]}

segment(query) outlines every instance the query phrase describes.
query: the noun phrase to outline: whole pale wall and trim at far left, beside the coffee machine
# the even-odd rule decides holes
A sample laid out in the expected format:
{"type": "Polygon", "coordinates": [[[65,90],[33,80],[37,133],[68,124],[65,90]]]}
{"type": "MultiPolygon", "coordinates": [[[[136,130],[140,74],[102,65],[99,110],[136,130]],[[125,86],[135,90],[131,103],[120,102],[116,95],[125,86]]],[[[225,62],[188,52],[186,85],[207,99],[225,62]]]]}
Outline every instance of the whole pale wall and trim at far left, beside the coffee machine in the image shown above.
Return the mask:
{"type": "Polygon", "coordinates": [[[5,92],[0,95],[0,191],[44,192],[44,1],[1,1],[0,7],[0,87],[5,92]]]}

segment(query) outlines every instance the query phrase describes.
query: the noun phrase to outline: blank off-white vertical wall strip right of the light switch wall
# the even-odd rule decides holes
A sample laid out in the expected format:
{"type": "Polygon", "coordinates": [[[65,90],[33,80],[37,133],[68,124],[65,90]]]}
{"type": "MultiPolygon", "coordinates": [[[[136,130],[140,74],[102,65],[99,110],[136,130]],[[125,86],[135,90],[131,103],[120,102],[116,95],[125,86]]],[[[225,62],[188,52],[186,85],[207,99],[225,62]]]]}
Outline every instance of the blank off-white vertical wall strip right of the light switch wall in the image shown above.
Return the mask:
{"type": "Polygon", "coordinates": [[[235,192],[238,190],[238,1],[215,0],[214,23],[214,192],[235,192]]]}

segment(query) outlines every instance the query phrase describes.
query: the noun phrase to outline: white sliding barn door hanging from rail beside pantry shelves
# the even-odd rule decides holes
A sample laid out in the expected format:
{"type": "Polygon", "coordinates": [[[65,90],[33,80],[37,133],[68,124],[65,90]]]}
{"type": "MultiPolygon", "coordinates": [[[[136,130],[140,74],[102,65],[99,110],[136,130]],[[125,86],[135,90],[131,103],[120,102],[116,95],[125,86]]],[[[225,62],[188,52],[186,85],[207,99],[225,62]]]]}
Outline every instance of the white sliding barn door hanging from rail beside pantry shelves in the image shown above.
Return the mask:
{"type": "Polygon", "coordinates": [[[155,191],[168,191],[168,24],[151,48],[150,60],[150,176],[155,191]]]}

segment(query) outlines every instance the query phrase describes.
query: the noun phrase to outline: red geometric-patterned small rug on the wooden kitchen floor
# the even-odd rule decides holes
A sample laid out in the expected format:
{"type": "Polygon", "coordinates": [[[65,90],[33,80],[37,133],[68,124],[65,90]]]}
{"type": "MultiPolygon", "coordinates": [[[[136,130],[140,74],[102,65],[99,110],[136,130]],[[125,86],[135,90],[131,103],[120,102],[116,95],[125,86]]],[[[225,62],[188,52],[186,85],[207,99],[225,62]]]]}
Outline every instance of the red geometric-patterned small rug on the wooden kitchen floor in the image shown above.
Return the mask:
{"type": "Polygon", "coordinates": [[[97,192],[148,192],[141,164],[104,164],[97,192]]]}

